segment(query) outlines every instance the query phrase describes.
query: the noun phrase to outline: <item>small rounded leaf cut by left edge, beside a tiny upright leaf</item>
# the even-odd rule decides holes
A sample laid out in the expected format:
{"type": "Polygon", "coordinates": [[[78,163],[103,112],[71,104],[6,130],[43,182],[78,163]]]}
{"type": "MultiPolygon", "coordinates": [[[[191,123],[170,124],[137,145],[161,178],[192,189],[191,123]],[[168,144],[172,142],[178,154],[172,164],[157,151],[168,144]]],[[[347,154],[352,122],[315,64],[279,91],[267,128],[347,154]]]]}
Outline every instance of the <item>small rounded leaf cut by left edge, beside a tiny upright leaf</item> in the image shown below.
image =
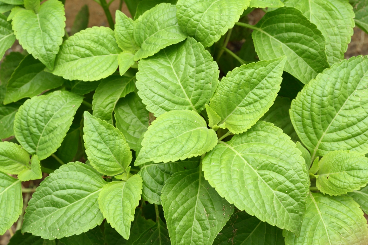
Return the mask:
{"type": "Polygon", "coordinates": [[[0,171],[19,174],[27,168],[29,154],[20,145],[12,142],[0,142],[0,171]]]}

